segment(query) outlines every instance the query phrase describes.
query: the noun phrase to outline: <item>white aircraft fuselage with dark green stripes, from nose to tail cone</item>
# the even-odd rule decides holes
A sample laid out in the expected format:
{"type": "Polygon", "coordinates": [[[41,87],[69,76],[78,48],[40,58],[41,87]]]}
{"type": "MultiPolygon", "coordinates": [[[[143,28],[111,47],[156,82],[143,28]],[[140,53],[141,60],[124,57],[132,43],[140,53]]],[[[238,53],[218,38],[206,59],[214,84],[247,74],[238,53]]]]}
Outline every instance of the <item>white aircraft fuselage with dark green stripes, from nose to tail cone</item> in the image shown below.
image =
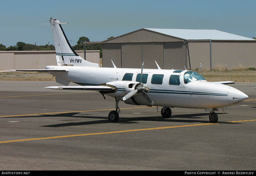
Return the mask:
{"type": "MultiPolygon", "coordinates": [[[[125,74],[130,74],[129,80],[124,80],[123,82],[140,82],[138,78],[141,75],[141,69],[73,66],[47,66],[46,69],[69,70],[68,72],[49,73],[79,85],[111,83],[111,85],[116,86],[118,89],[115,93],[106,93],[106,95],[111,97],[123,97],[131,90],[134,90],[134,87],[128,89],[123,83],[115,85],[115,81],[120,83],[120,81],[125,79],[125,74]]],[[[142,83],[145,87],[150,87],[148,95],[153,100],[154,106],[210,109],[227,107],[248,98],[243,92],[216,82],[195,80],[187,83],[184,79],[184,74],[187,72],[187,70],[143,70],[143,75],[147,76],[145,76],[142,83]],[[178,79],[178,81],[172,83],[171,77],[178,79]]],[[[142,94],[136,94],[124,102],[134,105],[150,105],[142,94]]]]}

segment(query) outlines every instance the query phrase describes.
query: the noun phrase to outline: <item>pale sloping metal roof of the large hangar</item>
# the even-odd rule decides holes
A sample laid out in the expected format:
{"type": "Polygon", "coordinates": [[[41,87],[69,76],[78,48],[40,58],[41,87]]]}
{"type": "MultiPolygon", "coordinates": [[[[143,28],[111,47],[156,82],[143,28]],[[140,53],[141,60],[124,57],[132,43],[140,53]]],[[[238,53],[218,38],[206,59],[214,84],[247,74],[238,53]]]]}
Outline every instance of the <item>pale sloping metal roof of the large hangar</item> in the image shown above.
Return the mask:
{"type": "Polygon", "coordinates": [[[161,34],[182,38],[185,40],[254,40],[252,38],[242,37],[227,32],[212,29],[157,29],[143,28],[155,31],[161,34]]]}

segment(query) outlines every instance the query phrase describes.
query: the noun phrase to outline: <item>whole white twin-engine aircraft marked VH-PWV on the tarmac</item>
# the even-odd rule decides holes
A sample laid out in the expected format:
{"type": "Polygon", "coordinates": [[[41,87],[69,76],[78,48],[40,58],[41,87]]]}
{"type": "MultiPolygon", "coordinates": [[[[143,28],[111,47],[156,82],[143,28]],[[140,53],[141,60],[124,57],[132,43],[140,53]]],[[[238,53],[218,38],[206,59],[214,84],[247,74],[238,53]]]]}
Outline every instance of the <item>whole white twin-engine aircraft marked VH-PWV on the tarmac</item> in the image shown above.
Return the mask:
{"type": "Polygon", "coordinates": [[[214,111],[234,105],[248,98],[243,92],[225,84],[234,82],[207,82],[200,74],[188,70],[102,68],[82,59],[72,49],[58,20],[50,20],[57,66],[41,70],[12,70],[48,72],[56,82],[65,86],[45,87],[57,90],[93,90],[103,97],[115,98],[116,110],[109,113],[109,121],[117,122],[119,101],[132,105],[163,106],[161,115],[169,118],[170,107],[205,109],[209,120],[218,122],[214,111]],[[79,86],[68,86],[70,82],[79,86]]]}

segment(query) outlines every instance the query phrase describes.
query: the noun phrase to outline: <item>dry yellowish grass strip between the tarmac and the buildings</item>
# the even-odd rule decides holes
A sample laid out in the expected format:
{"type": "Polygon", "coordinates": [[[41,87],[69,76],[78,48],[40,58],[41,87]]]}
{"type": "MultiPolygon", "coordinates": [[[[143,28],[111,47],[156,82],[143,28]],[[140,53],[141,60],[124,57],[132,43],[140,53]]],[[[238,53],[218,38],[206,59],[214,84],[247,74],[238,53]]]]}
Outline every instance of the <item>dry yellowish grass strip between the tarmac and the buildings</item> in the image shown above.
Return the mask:
{"type": "MultiPolygon", "coordinates": [[[[207,81],[234,81],[234,82],[256,82],[256,70],[252,69],[232,69],[228,70],[225,66],[219,66],[212,70],[203,70],[204,78],[207,81]]],[[[195,69],[201,74],[201,70],[195,69]]],[[[11,81],[55,81],[51,74],[37,72],[0,72],[0,80],[11,81]]]]}

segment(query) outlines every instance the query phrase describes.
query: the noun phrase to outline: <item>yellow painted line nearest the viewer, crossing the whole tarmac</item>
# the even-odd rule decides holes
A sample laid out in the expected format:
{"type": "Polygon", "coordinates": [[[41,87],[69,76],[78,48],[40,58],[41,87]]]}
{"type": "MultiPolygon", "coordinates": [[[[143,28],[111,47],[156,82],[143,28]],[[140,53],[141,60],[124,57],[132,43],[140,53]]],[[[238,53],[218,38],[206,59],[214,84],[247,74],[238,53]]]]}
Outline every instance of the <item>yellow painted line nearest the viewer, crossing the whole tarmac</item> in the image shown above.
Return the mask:
{"type": "Polygon", "coordinates": [[[102,135],[102,134],[124,133],[124,132],[132,132],[132,131],[200,126],[200,125],[214,125],[214,124],[223,124],[223,123],[250,122],[250,121],[256,121],[256,119],[254,119],[254,120],[238,120],[238,121],[221,122],[221,123],[207,123],[207,124],[179,125],[179,126],[158,127],[158,128],[132,129],[132,130],[123,130],[123,131],[110,131],[110,132],[103,132],[103,133],[88,133],[88,134],[80,134],[80,135],[53,136],[53,137],[33,138],[33,139],[19,139],[19,140],[0,141],[0,143],[19,142],[19,141],[28,141],[28,140],[39,140],[39,139],[54,139],[54,138],[75,137],[75,136],[102,135]]]}

